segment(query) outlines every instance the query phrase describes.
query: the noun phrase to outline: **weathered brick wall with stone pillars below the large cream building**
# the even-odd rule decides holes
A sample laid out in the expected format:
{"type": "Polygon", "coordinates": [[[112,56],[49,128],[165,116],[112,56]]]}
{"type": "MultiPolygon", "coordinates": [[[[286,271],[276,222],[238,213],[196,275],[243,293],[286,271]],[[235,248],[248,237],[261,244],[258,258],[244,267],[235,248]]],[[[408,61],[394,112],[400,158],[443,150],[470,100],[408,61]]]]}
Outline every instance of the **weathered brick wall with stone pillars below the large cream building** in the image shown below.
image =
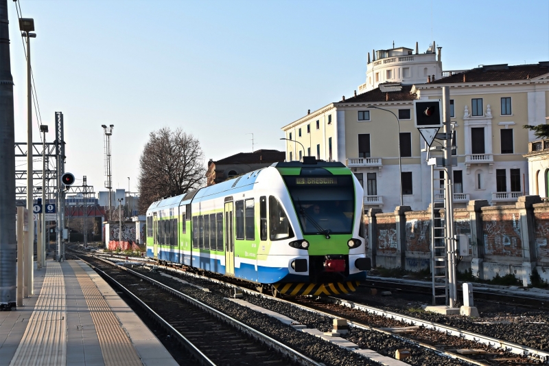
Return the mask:
{"type": "MultiPolygon", "coordinates": [[[[444,217],[444,212],[440,212],[444,217]]],[[[397,207],[383,213],[370,209],[364,216],[368,233],[366,251],[374,266],[421,271],[431,265],[430,210],[397,207]]],[[[549,281],[549,203],[539,196],[519,197],[515,205],[488,206],[486,200],[469,201],[454,209],[456,234],[469,239],[467,255],[458,271],[471,270],[481,279],[512,273],[530,283],[533,268],[549,281]]]]}

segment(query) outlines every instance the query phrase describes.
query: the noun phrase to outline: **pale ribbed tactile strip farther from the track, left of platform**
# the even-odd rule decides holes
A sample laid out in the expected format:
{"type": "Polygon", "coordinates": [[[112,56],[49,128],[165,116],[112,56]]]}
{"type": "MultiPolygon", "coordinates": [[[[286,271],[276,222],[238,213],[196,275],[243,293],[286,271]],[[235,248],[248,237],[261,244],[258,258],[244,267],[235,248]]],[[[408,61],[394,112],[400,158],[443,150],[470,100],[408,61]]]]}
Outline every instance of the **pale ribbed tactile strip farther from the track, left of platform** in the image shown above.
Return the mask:
{"type": "Polygon", "coordinates": [[[42,290],[10,366],[66,363],[65,279],[58,262],[47,262],[46,266],[42,290]]]}

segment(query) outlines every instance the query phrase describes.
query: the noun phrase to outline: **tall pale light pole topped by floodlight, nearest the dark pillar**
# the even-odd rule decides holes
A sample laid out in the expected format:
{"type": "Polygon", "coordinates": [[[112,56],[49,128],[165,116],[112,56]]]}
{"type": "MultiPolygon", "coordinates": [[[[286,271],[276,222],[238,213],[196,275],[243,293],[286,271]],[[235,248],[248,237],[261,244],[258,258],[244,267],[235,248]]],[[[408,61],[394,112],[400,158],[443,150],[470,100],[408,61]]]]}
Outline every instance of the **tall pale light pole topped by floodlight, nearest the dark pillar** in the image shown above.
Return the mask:
{"type": "MultiPolygon", "coordinates": [[[[27,38],[27,210],[29,215],[32,215],[34,202],[32,199],[32,89],[30,75],[30,38],[35,38],[34,19],[19,18],[19,30],[21,36],[27,38]]],[[[34,280],[32,277],[33,264],[32,258],[34,253],[34,221],[29,224],[27,253],[25,253],[25,272],[27,273],[27,291],[29,295],[34,294],[34,280]]]]}

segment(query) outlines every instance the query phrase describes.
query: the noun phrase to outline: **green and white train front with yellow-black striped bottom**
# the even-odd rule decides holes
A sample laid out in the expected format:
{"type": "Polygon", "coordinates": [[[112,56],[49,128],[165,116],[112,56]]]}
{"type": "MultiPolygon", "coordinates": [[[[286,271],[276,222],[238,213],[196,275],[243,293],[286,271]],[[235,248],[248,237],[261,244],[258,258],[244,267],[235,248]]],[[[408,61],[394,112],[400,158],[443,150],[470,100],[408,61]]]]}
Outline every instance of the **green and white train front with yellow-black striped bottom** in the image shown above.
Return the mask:
{"type": "Polygon", "coordinates": [[[289,245],[307,254],[292,260],[290,271],[295,271],[294,279],[305,275],[307,282],[282,281],[274,288],[290,295],[354,291],[371,268],[366,258],[362,185],[342,163],[279,166],[285,164],[277,168],[290,196],[295,214],[290,220],[297,231],[289,245]]]}

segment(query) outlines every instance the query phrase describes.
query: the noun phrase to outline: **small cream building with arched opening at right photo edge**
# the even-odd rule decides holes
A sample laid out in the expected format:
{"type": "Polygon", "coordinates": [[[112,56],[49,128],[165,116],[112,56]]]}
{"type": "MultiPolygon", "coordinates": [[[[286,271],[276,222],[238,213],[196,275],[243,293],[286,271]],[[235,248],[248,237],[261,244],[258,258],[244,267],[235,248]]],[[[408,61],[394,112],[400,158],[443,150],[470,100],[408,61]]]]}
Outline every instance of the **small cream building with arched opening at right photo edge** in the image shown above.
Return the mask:
{"type": "Polygon", "coordinates": [[[528,192],[549,200],[549,139],[528,143],[528,192]]]}

